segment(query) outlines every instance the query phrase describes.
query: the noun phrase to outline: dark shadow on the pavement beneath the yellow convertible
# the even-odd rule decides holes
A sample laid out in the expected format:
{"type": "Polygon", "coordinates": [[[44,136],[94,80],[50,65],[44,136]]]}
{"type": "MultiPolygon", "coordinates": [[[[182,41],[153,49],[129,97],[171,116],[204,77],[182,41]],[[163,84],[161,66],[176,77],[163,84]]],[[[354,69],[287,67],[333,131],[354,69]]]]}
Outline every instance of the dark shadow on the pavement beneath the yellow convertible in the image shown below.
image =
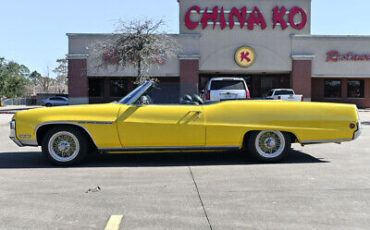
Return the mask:
{"type": "MultiPolygon", "coordinates": [[[[292,150],[283,161],[275,164],[328,163],[306,153],[292,150]]],[[[261,164],[241,152],[207,153],[152,153],[90,156],[74,167],[171,167],[211,165],[254,165],[261,164]]],[[[44,159],[41,152],[0,152],[0,169],[11,168],[55,168],[44,159]]]]}

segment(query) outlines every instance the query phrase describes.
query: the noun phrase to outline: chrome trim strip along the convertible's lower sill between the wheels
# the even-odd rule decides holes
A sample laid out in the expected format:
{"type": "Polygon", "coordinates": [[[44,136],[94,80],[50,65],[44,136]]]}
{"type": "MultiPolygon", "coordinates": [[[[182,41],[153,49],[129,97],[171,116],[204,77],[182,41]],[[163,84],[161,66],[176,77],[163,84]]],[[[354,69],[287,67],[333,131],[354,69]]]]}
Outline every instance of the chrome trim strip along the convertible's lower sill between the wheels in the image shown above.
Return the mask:
{"type": "Polygon", "coordinates": [[[168,147],[125,147],[99,148],[107,152],[141,152],[141,151],[171,151],[171,150],[238,150],[239,146],[168,146],[168,147]]]}

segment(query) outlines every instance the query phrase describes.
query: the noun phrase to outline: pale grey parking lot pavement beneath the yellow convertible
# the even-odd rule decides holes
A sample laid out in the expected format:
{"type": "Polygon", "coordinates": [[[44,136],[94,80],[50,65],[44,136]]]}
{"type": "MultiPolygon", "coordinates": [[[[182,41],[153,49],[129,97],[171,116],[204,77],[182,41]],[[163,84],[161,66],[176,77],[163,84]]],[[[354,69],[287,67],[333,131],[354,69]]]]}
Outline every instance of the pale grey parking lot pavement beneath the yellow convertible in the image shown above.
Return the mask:
{"type": "Polygon", "coordinates": [[[0,228],[369,229],[370,110],[349,143],[293,145],[279,164],[239,153],[90,158],[53,167],[0,114],[0,228]],[[100,190],[97,189],[100,187],[100,190]]]}

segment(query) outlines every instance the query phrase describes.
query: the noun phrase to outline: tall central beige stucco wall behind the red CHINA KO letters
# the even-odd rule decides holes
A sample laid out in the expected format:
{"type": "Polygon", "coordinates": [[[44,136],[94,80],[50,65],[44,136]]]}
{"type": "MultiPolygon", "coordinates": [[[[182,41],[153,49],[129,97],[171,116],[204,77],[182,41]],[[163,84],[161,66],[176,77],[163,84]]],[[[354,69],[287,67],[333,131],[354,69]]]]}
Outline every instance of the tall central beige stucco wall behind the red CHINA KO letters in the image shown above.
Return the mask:
{"type": "MultiPolygon", "coordinates": [[[[310,0],[180,0],[180,32],[181,33],[200,33],[201,72],[228,72],[228,73],[261,73],[261,72],[290,72],[291,64],[291,38],[290,34],[310,34],[311,27],[311,1],[310,0]],[[267,28],[262,30],[259,26],[250,31],[245,26],[240,29],[235,25],[233,30],[226,27],[221,30],[220,25],[213,29],[209,25],[205,30],[199,25],[195,30],[189,30],[185,26],[185,14],[192,6],[197,5],[202,10],[206,7],[212,9],[214,6],[225,10],[233,7],[238,9],[246,6],[248,10],[253,10],[256,6],[265,18],[267,28]],[[280,27],[273,29],[273,8],[285,6],[291,9],[294,6],[303,8],[307,14],[308,21],[303,30],[296,30],[288,27],[282,30],[280,27]],[[250,46],[255,49],[257,59],[249,68],[241,68],[234,61],[234,54],[241,46],[250,46]]],[[[197,14],[193,15],[196,20],[197,14]]],[[[287,17],[286,17],[287,18],[287,17]]]]}

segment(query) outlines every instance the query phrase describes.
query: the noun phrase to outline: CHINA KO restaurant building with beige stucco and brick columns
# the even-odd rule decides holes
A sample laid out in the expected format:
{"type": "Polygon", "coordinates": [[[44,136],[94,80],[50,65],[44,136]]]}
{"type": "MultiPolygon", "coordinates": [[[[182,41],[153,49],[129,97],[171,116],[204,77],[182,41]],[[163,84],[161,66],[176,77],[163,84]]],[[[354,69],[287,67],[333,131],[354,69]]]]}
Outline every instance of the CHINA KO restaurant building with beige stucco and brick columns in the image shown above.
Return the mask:
{"type": "MultiPolygon", "coordinates": [[[[199,93],[211,77],[243,77],[252,98],[292,88],[307,101],[370,107],[370,37],[311,35],[311,0],[179,0],[181,49],[150,75],[167,100],[199,93]]],[[[112,34],[67,34],[73,104],[117,100],[134,68],[97,68],[94,43],[112,34]]]]}

